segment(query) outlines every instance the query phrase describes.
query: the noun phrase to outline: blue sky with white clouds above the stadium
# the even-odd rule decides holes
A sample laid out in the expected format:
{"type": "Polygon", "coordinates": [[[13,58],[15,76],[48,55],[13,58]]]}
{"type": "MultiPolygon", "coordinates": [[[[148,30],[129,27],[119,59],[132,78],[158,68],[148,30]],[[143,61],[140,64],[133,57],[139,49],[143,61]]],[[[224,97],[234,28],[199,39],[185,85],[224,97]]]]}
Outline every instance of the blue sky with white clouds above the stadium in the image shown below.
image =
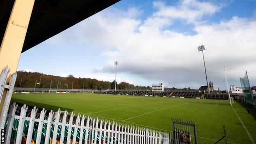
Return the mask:
{"type": "Polygon", "coordinates": [[[134,85],[256,85],[256,0],[121,0],[21,54],[18,70],[134,85]]]}

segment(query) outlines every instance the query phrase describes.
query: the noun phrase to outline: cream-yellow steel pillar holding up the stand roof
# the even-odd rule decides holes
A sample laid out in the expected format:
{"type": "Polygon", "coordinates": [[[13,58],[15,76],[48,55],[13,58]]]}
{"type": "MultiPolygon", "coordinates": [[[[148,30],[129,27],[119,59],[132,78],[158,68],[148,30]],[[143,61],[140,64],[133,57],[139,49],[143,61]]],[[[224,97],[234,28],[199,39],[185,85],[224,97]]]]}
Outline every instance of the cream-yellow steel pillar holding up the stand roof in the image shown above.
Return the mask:
{"type": "MultiPolygon", "coordinates": [[[[0,48],[0,71],[8,65],[11,74],[17,71],[21,50],[27,33],[34,0],[15,0],[0,48]]],[[[6,91],[1,99],[0,113],[5,101],[6,91]]]]}

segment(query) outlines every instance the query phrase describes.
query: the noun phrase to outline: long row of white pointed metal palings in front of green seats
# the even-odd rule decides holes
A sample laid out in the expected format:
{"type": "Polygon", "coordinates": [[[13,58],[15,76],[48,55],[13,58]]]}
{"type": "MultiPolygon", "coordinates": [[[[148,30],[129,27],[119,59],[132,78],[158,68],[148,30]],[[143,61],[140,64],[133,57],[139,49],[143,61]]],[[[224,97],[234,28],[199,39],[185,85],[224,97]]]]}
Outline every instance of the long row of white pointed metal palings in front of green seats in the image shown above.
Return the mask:
{"type": "Polygon", "coordinates": [[[71,113],[68,121],[68,112],[60,110],[57,112],[50,111],[47,119],[45,117],[46,110],[41,110],[39,116],[36,107],[30,112],[26,105],[21,107],[20,114],[16,114],[17,107],[18,105],[13,103],[9,109],[5,133],[6,144],[11,142],[11,133],[14,130],[17,130],[17,137],[14,139],[16,144],[21,144],[22,137],[27,137],[26,144],[31,144],[32,135],[35,137],[35,133],[33,133],[35,122],[37,122],[38,126],[36,139],[33,139],[35,144],[42,143],[42,135],[44,144],[49,144],[49,142],[50,144],[76,144],[78,142],[79,144],[170,144],[169,133],[98,118],[95,120],[92,117],[87,117],[86,119],[85,115],[81,116],[80,114],[78,114],[75,123],[73,123],[74,113],[71,113]],[[61,116],[62,120],[60,119],[61,116]],[[14,126],[14,120],[17,119],[18,128],[14,126]],[[25,121],[29,121],[29,125],[26,127],[28,129],[27,134],[23,133],[25,121]],[[43,125],[46,128],[45,133],[42,132],[43,125]],[[50,133],[53,135],[50,136],[50,133]],[[71,139],[71,135],[73,139],[71,139]]]}

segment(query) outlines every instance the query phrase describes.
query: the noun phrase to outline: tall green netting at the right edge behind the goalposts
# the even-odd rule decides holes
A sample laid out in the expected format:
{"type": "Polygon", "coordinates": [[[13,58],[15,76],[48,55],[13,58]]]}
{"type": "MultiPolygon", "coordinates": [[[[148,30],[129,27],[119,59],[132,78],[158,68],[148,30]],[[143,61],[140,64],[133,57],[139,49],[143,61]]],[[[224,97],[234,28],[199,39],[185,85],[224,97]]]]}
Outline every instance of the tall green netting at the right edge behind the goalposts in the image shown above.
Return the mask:
{"type": "Polygon", "coordinates": [[[250,87],[250,84],[249,84],[249,79],[248,79],[247,72],[245,72],[244,78],[240,78],[240,82],[241,82],[242,87],[245,88],[245,90],[243,91],[245,101],[247,103],[250,103],[250,104],[254,105],[252,95],[251,95],[251,87],[250,87]]]}

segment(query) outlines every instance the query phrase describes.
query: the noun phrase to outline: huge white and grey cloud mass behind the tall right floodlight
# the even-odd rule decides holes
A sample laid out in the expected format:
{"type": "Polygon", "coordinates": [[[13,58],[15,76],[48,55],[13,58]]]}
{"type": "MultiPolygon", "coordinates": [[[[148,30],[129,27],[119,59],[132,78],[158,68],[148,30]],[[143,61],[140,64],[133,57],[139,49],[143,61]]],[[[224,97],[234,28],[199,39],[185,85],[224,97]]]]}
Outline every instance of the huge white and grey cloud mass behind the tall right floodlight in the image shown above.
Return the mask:
{"type": "Polygon", "coordinates": [[[114,72],[114,61],[118,60],[121,73],[151,82],[170,82],[173,87],[197,88],[205,85],[203,59],[197,50],[203,44],[208,80],[214,82],[216,89],[225,88],[223,66],[230,85],[239,85],[239,76],[244,75],[245,69],[252,85],[256,84],[255,20],[234,16],[219,23],[197,24],[197,34],[188,35],[163,27],[175,23],[175,19],[187,23],[203,21],[204,15],[215,14],[220,7],[197,0],[182,0],[178,7],[162,2],[153,5],[158,11],[145,21],[137,18],[139,12],[107,9],[69,30],[68,36],[74,36],[74,41],[99,48],[103,51],[99,55],[107,57],[103,65],[93,69],[98,74],[88,77],[112,81],[113,77],[104,75],[114,72]]]}

